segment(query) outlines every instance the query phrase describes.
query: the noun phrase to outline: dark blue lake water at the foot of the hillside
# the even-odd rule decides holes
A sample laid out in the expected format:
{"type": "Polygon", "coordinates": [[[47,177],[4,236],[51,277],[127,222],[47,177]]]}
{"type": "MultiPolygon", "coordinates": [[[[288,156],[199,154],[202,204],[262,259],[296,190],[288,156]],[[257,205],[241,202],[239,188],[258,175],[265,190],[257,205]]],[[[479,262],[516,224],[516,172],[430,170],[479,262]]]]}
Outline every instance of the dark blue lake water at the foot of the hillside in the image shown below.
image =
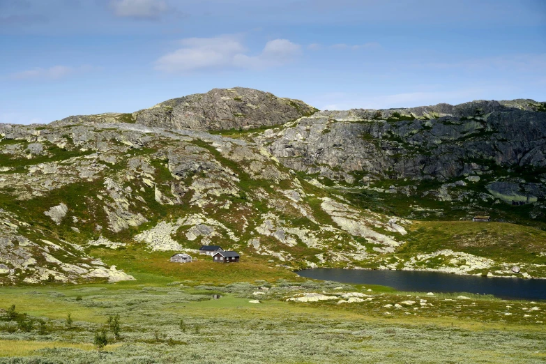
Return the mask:
{"type": "Polygon", "coordinates": [[[382,285],[399,291],[469,292],[503,298],[546,299],[546,280],[476,277],[421,271],[363,271],[358,269],[315,268],[298,275],[317,280],[333,280],[361,285],[382,285]]]}

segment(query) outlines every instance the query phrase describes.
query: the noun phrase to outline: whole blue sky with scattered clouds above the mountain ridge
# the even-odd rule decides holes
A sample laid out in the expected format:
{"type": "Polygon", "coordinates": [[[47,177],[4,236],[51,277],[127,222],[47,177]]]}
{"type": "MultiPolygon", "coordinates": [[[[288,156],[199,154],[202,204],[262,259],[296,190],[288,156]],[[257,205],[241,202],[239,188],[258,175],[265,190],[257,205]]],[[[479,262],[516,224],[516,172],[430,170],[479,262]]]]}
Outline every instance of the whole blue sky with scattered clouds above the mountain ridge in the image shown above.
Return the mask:
{"type": "Polygon", "coordinates": [[[0,123],[245,86],[320,109],[546,101],[543,0],[0,0],[0,123]]]}

